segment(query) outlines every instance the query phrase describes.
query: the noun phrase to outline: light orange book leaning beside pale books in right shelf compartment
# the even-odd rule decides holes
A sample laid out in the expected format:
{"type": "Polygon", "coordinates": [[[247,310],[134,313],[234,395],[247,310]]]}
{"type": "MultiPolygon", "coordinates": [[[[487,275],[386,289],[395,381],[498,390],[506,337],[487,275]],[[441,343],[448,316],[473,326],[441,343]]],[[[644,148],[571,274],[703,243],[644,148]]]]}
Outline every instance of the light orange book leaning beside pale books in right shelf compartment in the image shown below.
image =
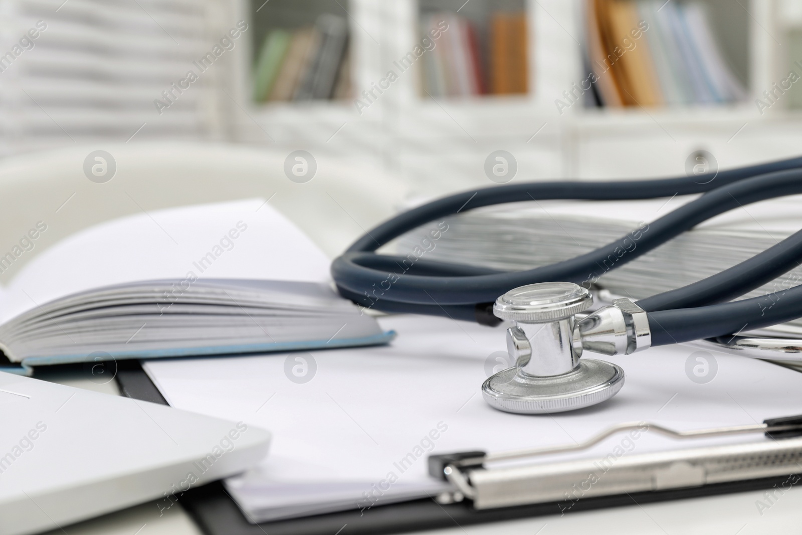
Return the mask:
{"type": "Polygon", "coordinates": [[[619,43],[618,47],[624,51],[617,66],[626,78],[626,86],[630,88],[628,95],[638,106],[658,106],[664,102],[662,91],[657,81],[657,75],[648,43],[638,26],[638,14],[634,2],[630,0],[610,0],[610,34],[619,43]],[[640,39],[634,39],[633,32],[640,34],[640,39]]]}

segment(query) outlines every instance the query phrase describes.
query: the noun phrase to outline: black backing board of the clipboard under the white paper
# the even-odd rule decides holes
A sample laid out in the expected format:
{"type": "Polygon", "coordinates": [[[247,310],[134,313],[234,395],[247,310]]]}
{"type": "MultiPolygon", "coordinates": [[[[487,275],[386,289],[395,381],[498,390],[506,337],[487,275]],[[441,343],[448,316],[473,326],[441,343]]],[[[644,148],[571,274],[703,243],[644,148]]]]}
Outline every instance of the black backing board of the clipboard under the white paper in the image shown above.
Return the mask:
{"type": "MultiPolygon", "coordinates": [[[[115,378],[120,391],[128,397],[153,403],[168,404],[147,374],[133,361],[118,371],[115,378]]],[[[802,455],[802,451],[800,451],[802,455]]],[[[643,505],[658,501],[683,500],[772,488],[784,484],[798,472],[781,476],[760,477],[702,484],[685,488],[666,488],[643,492],[618,493],[608,496],[582,497],[566,507],[565,501],[548,501],[529,505],[512,505],[495,509],[475,509],[469,501],[444,504],[437,496],[427,499],[376,505],[371,509],[326,513],[284,521],[251,524],[220,481],[192,488],[180,496],[179,503],[197,525],[209,535],[367,535],[404,533],[423,529],[441,529],[457,525],[484,524],[546,515],[570,514],[593,509],[643,505]]]]}

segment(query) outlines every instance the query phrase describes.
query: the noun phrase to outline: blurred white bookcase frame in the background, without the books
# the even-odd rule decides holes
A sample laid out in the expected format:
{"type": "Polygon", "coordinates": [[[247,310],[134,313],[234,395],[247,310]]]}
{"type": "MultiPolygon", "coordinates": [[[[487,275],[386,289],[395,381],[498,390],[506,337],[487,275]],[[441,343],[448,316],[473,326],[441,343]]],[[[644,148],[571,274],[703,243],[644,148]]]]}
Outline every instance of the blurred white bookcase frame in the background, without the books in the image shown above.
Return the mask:
{"type": "MultiPolygon", "coordinates": [[[[236,1],[241,6],[246,2],[236,1]]],[[[753,95],[781,79],[780,49],[772,38],[783,27],[777,22],[778,2],[788,0],[742,2],[750,13],[753,95]]],[[[460,180],[464,187],[484,183],[484,157],[500,148],[520,155],[516,157],[522,176],[532,178],[642,175],[648,169],[654,174],[655,168],[681,171],[684,159],[698,148],[714,148],[724,167],[798,152],[802,135],[795,128],[802,126],[802,113],[786,113],[777,106],[761,116],[754,96],[738,106],[646,110],[576,103],[560,114],[555,99],[583,78],[579,0],[525,0],[525,6],[528,95],[421,98],[419,73],[413,68],[400,73],[362,114],[353,101],[248,104],[248,114],[239,114],[234,136],[288,151],[305,148],[344,158],[375,157],[389,172],[421,188],[435,183],[457,188],[460,180]],[[264,131],[275,141],[265,140],[264,131]],[[782,140],[777,139],[780,133],[782,140]],[[622,164],[625,159],[630,163],[622,164]]],[[[388,70],[396,70],[394,60],[415,46],[419,11],[416,0],[351,0],[347,7],[354,90],[361,93],[388,70]]],[[[244,67],[250,64],[250,51],[242,47],[240,53],[245,55],[237,75],[240,102],[247,103],[243,90],[249,87],[249,75],[244,67]]]]}

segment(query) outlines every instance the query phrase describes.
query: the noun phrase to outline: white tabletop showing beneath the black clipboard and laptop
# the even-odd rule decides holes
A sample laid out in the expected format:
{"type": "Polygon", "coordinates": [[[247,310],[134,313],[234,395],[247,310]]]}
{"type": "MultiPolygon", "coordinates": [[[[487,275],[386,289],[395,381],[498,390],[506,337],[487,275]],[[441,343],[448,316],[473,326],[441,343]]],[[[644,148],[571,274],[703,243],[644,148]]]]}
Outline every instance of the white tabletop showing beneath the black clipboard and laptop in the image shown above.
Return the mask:
{"type": "MultiPolygon", "coordinates": [[[[118,394],[115,383],[98,385],[79,374],[45,373],[38,379],[118,394]]],[[[797,485],[799,486],[799,485],[797,485]]],[[[802,490],[738,492],[689,500],[598,509],[564,516],[552,515],[482,525],[454,525],[452,528],[415,532],[417,535],[750,535],[752,533],[802,532],[802,490]],[[758,508],[762,502],[768,509],[758,508]]],[[[165,510],[145,503],[79,524],[56,528],[47,535],[201,535],[201,530],[180,507],[165,510]]],[[[331,535],[334,535],[333,533],[331,535]]]]}

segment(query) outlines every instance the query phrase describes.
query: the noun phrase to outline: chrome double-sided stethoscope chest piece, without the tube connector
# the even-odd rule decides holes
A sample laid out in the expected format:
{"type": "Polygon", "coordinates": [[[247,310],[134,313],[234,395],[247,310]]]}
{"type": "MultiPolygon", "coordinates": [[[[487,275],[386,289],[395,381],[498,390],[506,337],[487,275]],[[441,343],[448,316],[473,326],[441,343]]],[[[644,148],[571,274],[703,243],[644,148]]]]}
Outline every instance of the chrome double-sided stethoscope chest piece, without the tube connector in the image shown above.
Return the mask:
{"type": "Polygon", "coordinates": [[[589,291],[571,282],[520,286],[498,298],[493,314],[516,322],[507,330],[507,351],[516,366],[484,382],[484,400],[501,411],[542,414],[589,407],[621,390],[621,367],[580,360],[583,333],[574,314],[591,305],[589,291]]]}

